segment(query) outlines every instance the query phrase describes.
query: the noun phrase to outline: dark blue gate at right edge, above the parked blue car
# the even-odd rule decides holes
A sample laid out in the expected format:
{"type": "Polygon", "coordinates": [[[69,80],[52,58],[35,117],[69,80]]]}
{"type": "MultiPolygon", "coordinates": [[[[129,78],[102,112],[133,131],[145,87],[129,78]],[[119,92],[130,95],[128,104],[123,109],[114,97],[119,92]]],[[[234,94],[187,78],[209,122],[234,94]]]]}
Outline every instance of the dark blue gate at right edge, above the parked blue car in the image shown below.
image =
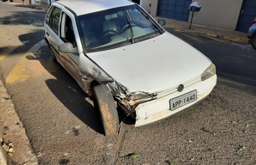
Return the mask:
{"type": "Polygon", "coordinates": [[[236,31],[247,33],[255,16],[256,0],[244,0],[239,19],[237,21],[236,31]]]}

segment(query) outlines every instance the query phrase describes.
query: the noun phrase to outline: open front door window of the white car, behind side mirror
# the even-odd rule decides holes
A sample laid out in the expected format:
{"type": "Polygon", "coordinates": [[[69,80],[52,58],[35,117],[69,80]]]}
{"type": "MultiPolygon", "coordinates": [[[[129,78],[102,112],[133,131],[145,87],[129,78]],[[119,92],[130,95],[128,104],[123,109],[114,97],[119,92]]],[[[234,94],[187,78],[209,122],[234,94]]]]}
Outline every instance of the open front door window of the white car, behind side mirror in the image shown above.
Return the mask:
{"type": "Polygon", "coordinates": [[[72,20],[65,13],[63,13],[62,16],[61,37],[65,43],[71,43],[73,47],[76,47],[76,40],[72,20]]]}

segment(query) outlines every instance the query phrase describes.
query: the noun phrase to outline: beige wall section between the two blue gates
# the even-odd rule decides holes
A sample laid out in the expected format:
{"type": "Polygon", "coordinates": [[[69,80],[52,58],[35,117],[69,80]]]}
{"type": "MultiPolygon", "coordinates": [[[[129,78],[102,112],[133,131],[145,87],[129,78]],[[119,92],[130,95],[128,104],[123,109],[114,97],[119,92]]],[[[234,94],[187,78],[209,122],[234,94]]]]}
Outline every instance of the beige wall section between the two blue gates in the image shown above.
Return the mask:
{"type": "MultiPolygon", "coordinates": [[[[202,6],[193,24],[235,30],[243,0],[196,0],[202,6]]],[[[189,16],[188,21],[190,22],[189,16]]]]}

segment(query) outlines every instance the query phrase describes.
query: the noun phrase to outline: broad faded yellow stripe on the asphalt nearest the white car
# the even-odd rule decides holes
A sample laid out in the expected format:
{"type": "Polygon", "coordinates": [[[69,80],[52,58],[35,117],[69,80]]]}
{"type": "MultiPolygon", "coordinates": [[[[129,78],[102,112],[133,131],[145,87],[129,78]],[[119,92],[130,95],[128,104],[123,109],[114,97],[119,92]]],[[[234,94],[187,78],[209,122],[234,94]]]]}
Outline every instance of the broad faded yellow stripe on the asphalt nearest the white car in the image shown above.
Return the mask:
{"type": "Polygon", "coordinates": [[[35,44],[32,48],[30,48],[30,50],[27,53],[25,53],[25,55],[23,55],[21,60],[19,62],[17,62],[17,64],[11,70],[9,75],[5,78],[6,84],[10,84],[10,83],[13,83],[14,81],[22,80],[24,78],[29,77],[29,73],[27,72],[27,62],[29,62],[29,60],[27,59],[27,56],[32,55],[33,57],[36,57],[34,54],[43,45],[46,45],[44,40],[35,44]]]}

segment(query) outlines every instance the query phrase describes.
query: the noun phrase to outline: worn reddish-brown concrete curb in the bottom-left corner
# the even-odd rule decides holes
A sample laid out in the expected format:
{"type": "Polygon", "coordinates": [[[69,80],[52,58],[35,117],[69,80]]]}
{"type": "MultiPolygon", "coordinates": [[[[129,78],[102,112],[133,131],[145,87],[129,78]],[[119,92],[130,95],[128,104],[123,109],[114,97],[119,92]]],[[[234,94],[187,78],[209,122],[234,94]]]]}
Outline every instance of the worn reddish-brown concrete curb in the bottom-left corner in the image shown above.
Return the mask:
{"type": "Polygon", "coordinates": [[[26,134],[25,127],[15,111],[15,106],[1,78],[0,74],[0,117],[3,121],[3,125],[0,123],[0,127],[4,126],[8,129],[0,130],[0,133],[5,133],[4,142],[13,144],[14,152],[11,153],[14,154],[13,156],[7,155],[8,151],[6,152],[6,149],[0,145],[0,165],[11,164],[11,162],[23,165],[38,165],[38,160],[26,134]]]}

